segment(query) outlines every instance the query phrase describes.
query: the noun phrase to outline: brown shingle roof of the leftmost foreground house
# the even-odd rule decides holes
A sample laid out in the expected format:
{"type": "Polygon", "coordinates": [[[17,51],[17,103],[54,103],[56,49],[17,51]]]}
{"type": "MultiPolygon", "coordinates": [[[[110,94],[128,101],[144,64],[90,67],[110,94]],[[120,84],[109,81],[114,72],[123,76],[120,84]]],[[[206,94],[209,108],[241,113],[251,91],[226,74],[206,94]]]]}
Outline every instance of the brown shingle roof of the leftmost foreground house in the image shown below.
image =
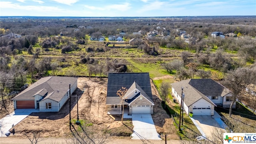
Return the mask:
{"type": "Polygon", "coordinates": [[[12,98],[12,100],[34,100],[34,96],[36,94],[41,96],[47,94],[47,98],[59,102],[68,92],[69,84],[72,85],[76,81],[77,78],[75,77],[49,76],[41,78],[34,84],[31,84],[31,86],[26,88],[24,91],[20,92],[17,96],[12,98]]]}

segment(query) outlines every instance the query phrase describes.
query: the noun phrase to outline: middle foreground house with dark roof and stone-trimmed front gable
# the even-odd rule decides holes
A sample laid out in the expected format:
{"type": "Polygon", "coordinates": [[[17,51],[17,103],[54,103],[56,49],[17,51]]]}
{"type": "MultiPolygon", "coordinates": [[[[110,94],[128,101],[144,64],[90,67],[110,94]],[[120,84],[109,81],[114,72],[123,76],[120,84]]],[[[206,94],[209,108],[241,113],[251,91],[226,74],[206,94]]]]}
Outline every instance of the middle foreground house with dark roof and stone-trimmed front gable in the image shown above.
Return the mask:
{"type": "Polygon", "coordinates": [[[154,102],[149,73],[108,73],[107,114],[122,114],[122,100],[116,94],[126,87],[124,110],[132,114],[153,114],[154,102]]]}

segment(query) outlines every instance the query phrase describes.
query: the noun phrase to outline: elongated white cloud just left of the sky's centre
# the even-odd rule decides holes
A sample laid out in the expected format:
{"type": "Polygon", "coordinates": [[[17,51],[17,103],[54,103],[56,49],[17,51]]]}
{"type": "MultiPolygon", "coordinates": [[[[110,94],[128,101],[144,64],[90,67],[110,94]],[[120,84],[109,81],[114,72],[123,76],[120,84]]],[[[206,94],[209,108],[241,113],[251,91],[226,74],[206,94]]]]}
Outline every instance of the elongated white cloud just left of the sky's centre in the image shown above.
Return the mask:
{"type": "Polygon", "coordinates": [[[84,7],[90,10],[119,10],[119,11],[126,11],[131,8],[130,3],[128,2],[125,2],[124,4],[106,5],[103,7],[95,7],[95,6],[88,6],[88,5],[85,5],[84,7]]]}

